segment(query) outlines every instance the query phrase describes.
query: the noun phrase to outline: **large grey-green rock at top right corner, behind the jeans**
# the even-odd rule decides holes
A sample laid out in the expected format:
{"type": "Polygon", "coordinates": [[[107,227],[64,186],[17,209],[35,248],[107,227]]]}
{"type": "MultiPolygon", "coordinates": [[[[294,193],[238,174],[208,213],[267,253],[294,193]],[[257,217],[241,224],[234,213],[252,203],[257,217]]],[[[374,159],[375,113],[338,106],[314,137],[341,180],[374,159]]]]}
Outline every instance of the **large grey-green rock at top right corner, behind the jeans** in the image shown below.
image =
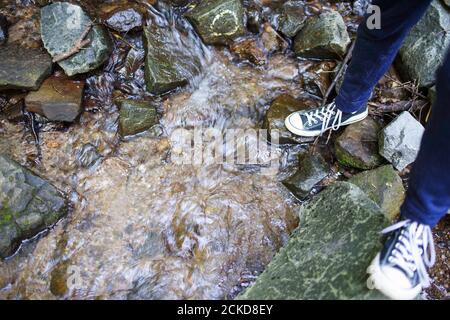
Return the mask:
{"type": "Polygon", "coordinates": [[[436,71],[450,45],[450,9],[433,1],[420,22],[414,26],[399,51],[398,69],[421,87],[435,83],[436,71]]]}

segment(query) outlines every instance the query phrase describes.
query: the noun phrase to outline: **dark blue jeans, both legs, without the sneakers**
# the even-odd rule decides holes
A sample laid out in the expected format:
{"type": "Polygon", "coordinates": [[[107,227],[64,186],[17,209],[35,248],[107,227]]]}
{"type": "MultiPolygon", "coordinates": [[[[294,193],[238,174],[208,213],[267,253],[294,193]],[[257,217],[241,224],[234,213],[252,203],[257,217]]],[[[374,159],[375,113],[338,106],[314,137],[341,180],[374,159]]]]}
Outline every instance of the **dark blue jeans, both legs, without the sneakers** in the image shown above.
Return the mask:
{"type": "MultiPolygon", "coordinates": [[[[378,80],[391,66],[409,30],[432,0],[374,0],[381,8],[381,29],[358,28],[352,61],[336,105],[344,112],[367,103],[378,80]]],[[[403,217],[434,226],[450,208],[450,52],[437,74],[437,101],[413,165],[403,217]]]]}

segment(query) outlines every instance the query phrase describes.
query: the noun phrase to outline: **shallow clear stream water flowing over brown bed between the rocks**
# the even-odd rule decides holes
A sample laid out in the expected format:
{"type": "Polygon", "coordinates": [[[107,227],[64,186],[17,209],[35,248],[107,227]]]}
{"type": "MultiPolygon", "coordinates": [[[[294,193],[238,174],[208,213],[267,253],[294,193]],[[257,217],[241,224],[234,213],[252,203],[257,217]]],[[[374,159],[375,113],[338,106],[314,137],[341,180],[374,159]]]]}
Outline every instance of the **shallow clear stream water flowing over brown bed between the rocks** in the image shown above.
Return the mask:
{"type": "Polygon", "coordinates": [[[298,61],[274,55],[263,68],[236,64],[227,49],[205,47],[179,23],[173,45],[190,43],[202,59],[189,86],[147,94],[141,37],[127,35],[87,79],[79,121],[41,124],[40,161],[23,123],[1,120],[0,152],[67,192],[72,209],[0,261],[0,298],[233,298],[297,226],[299,203],[280,180],[302,146],[261,155],[262,165],[280,164],[277,175],[264,175],[261,164],[175,164],[170,137],[177,128],[260,128],[271,100],[302,92],[299,82],[280,76],[298,61]],[[156,101],[160,125],[121,140],[120,96],[156,101]]]}

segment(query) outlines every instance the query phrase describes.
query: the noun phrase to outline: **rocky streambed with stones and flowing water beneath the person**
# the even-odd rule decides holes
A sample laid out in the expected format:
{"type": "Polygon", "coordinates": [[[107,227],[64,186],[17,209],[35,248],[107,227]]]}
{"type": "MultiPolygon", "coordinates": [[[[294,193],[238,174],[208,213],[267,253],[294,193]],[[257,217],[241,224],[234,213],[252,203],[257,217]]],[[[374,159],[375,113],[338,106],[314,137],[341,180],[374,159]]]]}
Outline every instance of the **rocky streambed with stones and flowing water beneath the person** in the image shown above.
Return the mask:
{"type": "MultiPolygon", "coordinates": [[[[272,260],[241,297],[382,298],[364,266],[398,217],[432,103],[433,79],[414,81],[437,64],[418,68],[428,57],[405,47],[371,116],[329,137],[283,124],[320,105],[365,6],[0,1],[0,298],[235,298],[272,260]],[[174,137],[196,128],[266,136],[227,150],[256,162],[179,163],[174,137]],[[274,266],[287,271],[275,283],[274,266]]],[[[443,36],[424,43],[441,48],[448,10],[436,1],[439,23],[411,37],[431,28],[443,36]]],[[[427,297],[445,298],[448,218],[436,232],[427,297]]]]}

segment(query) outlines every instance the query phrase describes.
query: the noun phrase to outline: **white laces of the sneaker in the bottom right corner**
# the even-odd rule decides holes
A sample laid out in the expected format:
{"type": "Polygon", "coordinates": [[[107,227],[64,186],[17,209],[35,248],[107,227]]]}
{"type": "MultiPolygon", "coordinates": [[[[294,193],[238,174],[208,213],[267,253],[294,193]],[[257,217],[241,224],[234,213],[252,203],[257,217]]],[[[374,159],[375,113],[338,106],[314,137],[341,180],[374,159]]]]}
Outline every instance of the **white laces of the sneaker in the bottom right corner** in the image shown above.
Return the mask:
{"type": "Polygon", "coordinates": [[[427,273],[427,267],[434,265],[436,252],[433,243],[433,234],[429,226],[413,222],[411,220],[400,221],[383,231],[383,234],[390,233],[406,226],[398,237],[398,242],[392,250],[388,261],[398,265],[410,277],[417,270],[419,279],[424,287],[430,285],[430,278],[427,273]],[[409,226],[407,226],[409,224],[409,226]],[[405,235],[405,233],[408,233],[405,235]],[[420,249],[419,246],[422,246],[420,249]]]}

